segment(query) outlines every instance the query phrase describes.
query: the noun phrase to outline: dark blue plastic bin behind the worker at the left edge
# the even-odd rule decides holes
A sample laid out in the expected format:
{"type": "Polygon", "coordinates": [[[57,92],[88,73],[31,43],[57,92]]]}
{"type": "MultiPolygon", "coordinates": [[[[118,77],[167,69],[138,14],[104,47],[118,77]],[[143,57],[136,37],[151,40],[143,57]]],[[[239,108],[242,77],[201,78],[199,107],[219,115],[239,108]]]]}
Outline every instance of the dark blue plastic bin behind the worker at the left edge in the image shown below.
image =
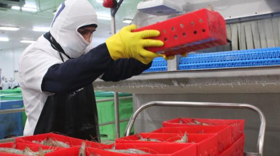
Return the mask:
{"type": "MultiPolygon", "coordinates": [[[[0,110],[21,108],[22,100],[9,100],[0,102],[0,110]]],[[[0,139],[8,136],[22,136],[22,115],[21,112],[0,114],[0,139]]]]}

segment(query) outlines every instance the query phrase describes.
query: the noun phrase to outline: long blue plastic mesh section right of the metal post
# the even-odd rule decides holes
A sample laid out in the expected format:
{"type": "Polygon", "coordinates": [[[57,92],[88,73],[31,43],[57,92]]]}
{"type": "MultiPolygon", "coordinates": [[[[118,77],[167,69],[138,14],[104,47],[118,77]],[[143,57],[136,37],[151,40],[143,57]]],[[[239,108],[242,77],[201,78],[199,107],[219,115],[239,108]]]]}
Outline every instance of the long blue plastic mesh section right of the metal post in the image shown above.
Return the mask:
{"type": "Polygon", "coordinates": [[[179,70],[280,65],[280,48],[190,54],[182,57],[179,70]]]}

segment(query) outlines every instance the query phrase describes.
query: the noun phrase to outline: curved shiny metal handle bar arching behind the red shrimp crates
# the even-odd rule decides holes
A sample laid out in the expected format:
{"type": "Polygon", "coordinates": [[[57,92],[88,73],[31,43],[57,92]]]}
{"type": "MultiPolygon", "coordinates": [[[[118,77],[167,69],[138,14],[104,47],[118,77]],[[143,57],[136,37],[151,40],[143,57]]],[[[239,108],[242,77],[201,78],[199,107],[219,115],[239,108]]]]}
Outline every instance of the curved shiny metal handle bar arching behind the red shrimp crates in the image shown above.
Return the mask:
{"type": "Polygon", "coordinates": [[[144,109],[151,107],[151,106],[188,106],[188,107],[211,107],[211,108],[236,108],[236,109],[251,109],[258,112],[261,125],[260,131],[258,136],[258,143],[257,143],[257,152],[263,155],[263,146],[264,146],[264,135],[265,135],[265,127],[266,127],[266,120],[264,113],[256,106],[251,104],[245,103],[214,103],[214,102],[175,102],[175,101],[151,101],[143,104],[139,107],[131,116],[129,123],[125,130],[125,136],[129,136],[131,128],[135,122],[136,116],[144,109]]]}

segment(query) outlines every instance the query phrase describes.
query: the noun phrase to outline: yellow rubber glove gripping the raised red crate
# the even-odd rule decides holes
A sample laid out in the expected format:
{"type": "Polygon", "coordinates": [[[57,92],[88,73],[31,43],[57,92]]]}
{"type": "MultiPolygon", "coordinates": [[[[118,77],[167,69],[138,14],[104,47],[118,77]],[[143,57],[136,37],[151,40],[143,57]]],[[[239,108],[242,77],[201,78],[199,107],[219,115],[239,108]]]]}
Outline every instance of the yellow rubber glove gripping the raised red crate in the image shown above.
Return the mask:
{"type": "Polygon", "coordinates": [[[161,47],[164,45],[160,40],[145,39],[158,36],[160,34],[158,30],[131,32],[134,29],[136,29],[136,25],[128,25],[123,27],[120,32],[107,38],[106,46],[111,58],[114,60],[134,58],[144,64],[149,64],[154,58],[162,56],[144,49],[144,47],[161,47]]]}

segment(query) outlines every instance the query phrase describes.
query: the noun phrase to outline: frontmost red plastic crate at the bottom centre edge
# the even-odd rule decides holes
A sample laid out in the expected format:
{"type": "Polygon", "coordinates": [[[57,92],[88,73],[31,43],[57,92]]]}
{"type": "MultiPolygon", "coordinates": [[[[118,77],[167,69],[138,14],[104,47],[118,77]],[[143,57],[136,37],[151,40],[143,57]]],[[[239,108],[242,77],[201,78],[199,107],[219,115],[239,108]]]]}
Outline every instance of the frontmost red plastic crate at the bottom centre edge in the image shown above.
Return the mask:
{"type": "MultiPolygon", "coordinates": [[[[100,154],[102,156],[117,155],[116,152],[111,152],[107,150],[102,150],[104,148],[111,149],[114,144],[107,145],[103,148],[92,148],[95,150],[95,154],[100,154]]],[[[156,155],[156,156],[197,156],[197,145],[191,143],[116,143],[115,149],[128,149],[135,148],[140,149],[151,154],[127,154],[127,155],[156,155]]],[[[122,154],[124,155],[124,154],[122,154]]]]}

